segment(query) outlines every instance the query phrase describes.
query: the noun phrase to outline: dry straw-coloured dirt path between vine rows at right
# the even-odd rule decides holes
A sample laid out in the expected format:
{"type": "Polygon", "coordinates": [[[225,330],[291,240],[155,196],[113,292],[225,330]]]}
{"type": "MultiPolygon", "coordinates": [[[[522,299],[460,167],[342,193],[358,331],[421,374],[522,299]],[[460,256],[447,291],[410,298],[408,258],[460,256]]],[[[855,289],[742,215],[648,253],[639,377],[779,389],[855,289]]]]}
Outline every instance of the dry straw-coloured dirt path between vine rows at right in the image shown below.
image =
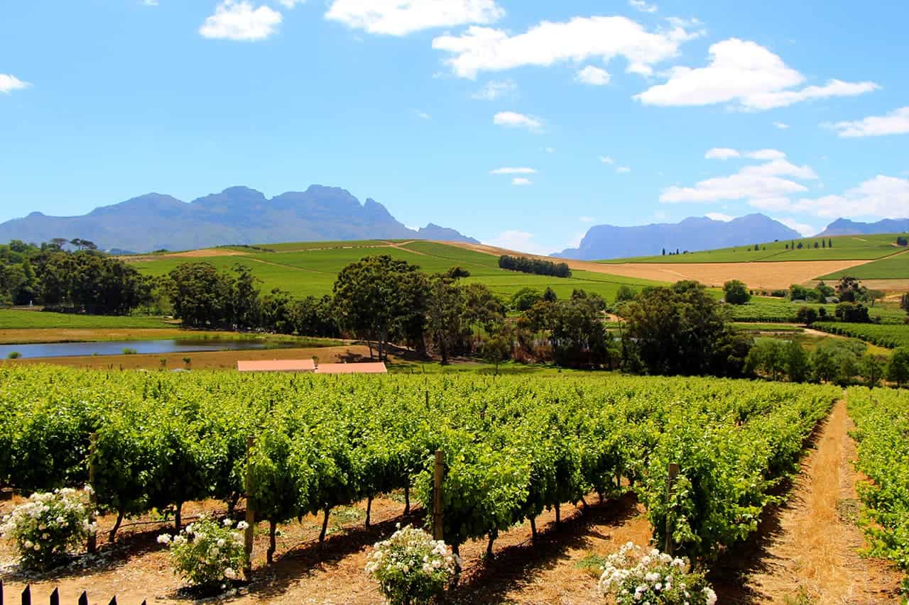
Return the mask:
{"type": "Polygon", "coordinates": [[[863,476],[853,467],[853,428],[845,402],[836,403],[789,500],[764,520],[742,556],[722,561],[718,571],[730,585],[718,587],[720,602],[784,603],[800,593],[824,605],[900,602],[899,572],[859,555],[865,542],[855,524],[855,483],[863,476]]]}

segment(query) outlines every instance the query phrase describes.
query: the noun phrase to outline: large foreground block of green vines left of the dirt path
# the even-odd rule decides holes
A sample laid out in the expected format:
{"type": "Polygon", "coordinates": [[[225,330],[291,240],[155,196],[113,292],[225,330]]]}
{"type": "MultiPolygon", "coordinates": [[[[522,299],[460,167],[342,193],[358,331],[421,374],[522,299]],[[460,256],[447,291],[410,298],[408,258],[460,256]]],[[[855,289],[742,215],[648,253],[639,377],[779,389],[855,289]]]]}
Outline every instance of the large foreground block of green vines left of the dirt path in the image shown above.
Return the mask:
{"type": "MultiPolygon", "coordinates": [[[[445,451],[458,547],[588,494],[634,490],[664,543],[709,560],[754,531],[834,388],[705,379],[244,376],[0,369],[0,481],[81,485],[121,517],[208,498],[250,474],[259,520],[413,491],[431,509],[445,451]],[[90,456],[91,435],[95,435],[90,456]],[[248,457],[247,437],[255,438],[248,457]],[[670,462],[680,472],[671,497],[670,462]],[[179,478],[175,481],[176,478],[179,478]]],[[[490,542],[491,543],[491,542],[490,542]]]]}

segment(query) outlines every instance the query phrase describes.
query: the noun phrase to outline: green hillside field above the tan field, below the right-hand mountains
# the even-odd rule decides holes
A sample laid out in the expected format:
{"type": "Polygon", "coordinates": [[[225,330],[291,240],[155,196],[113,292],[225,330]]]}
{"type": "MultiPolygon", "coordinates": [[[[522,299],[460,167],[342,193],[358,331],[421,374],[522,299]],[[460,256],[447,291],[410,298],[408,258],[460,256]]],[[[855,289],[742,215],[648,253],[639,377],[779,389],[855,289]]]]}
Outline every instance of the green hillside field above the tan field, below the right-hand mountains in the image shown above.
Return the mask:
{"type": "Polygon", "coordinates": [[[734,248],[720,248],[704,252],[678,254],[672,256],[638,256],[634,258],[612,259],[602,263],[776,263],[785,261],[851,261],[874,260],[889,254],[897,253],[900,249],[894,246],[896,235],[891,233],[881,235],[841,235],[832,239],[832,248],[814,248],[814,243],[821,245],[822,238],[805,238],[794,240],[795,245],[803,244],[802,250],[786,250],[786,244],[793,240],[780,242],[764,242],[757,244],[759,250],[754,250],[755,243],[744,243],[734,248]],[[749,250],[751,248],[751,250],[749,250]]]}

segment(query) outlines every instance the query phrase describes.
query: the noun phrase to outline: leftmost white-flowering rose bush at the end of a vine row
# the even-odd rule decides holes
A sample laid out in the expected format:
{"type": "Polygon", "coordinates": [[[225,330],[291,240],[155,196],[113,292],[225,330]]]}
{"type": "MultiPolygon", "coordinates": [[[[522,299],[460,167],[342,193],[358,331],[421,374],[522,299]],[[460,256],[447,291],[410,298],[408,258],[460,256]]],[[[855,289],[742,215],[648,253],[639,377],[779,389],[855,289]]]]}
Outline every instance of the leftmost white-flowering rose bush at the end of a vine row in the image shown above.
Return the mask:
{"type": "Polygon", "coordinates": [[[95,531],[89,522],[90,490],[85,486],[81,491],[66,488],[32,494],[3,519],[0,534],[15,542],[24,568],[54,567],[95,531]]]}

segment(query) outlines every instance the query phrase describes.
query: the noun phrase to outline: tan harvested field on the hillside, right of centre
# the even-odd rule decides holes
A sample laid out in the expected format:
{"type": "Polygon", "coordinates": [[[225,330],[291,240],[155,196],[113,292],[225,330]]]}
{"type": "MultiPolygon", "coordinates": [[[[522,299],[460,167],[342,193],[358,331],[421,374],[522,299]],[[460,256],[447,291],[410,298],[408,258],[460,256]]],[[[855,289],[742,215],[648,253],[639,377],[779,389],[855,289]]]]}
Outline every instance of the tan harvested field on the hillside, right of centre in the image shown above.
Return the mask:
{"type": "MultiPolygon", "coordinates": [[[[451,245],[494,254],[528,254],[476,243],[446,242],[451,245]]],[[[532,254],[530,256],[533,256],[532,254]]],[[[806,283],[818,275],[849,269],[869,261],[789,261],[784,263],[624,263],[603,264],[591,261],[573,261],[538,256],[549,261],[568,263],[578,271],[607,273],[656,282],[677,282],[696,280],[709,286],[722,286],[729,280],[741,280],[750,288],[777,290],[788,288],[793,283],[806,283]]]]}

